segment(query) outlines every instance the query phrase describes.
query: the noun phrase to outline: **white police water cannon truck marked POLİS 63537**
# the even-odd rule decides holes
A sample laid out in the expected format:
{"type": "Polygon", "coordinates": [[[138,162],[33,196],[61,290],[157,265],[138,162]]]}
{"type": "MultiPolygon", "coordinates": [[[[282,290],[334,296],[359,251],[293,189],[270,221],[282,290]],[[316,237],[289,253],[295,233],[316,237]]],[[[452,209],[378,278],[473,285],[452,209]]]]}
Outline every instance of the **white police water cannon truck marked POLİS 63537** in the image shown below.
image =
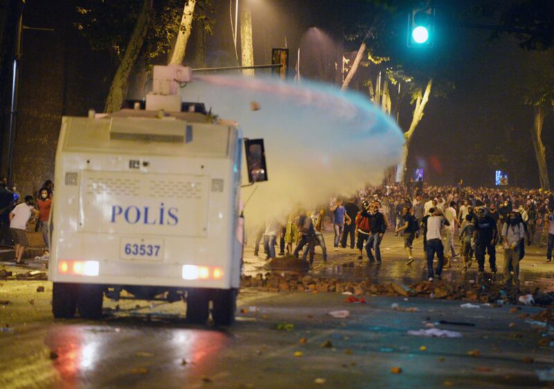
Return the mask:
{"type": "MultiPolygon", "coordinates": [[[[50,217],[55,318],[112,300],[186,300],[186,319],[230,325],[242,271],[242,147],[265,181],[262,139],[181,102],[184,66],[154,66],[145,103],[62,119],[50,217]],[[210,302],[212,304],[210,305],[210,302]]],[[[127,104],[128,105],[128,104],[127,104]]]]}

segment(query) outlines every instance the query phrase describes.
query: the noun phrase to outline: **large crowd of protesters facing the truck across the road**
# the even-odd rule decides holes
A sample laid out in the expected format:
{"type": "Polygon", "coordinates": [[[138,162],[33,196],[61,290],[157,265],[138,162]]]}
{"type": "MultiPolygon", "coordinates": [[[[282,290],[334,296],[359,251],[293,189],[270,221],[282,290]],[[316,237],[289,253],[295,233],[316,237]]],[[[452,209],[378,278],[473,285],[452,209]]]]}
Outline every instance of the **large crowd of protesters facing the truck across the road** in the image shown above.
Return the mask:
{"type": "Polygon", "coordinates": [[[467,271],[475,260],[479,273],[483,273],[488,257],[489,269],[496,273],[497,247],[503,252],[506,284],[519,284],[519,261],[525,256],[526,245],[537,242],[547,246],[546,260],[552,260],[553,192],[467,188],[462,183],[424,187],[421,180],[410,181],[407,186],[365,188],[346,202],[333,198],[328,207],[318,207],[311,215],[305,210],[294,212],[283,226],[269,221],[266,229],[262,228],[258,234],[258,242],[262,235],[271,235],[265,239],[267,259],[275,256],[271,249],[280,236],[280,255],[298,257],[303,252],[303,258],[307,260],[309,255],[311,264],[314,247],[319,245],[326,261],[327,249],[321,233],[325,215],[332,223],[334,250],[356,247],[359,260],[363,259],[365,250],[368,264],[382,263],[380,244],[387,230],[404,238],[407,265],[413,263],[414,239],[422,237],[429,281],[440,279],[443,268],[449,267],[451,259],[458,256],[462,271],[467,271]],[[456,253],[456,241],[460,242],[459,253],[456,253]],[[296,246],[294,251],[293,246],[296,246]]]}

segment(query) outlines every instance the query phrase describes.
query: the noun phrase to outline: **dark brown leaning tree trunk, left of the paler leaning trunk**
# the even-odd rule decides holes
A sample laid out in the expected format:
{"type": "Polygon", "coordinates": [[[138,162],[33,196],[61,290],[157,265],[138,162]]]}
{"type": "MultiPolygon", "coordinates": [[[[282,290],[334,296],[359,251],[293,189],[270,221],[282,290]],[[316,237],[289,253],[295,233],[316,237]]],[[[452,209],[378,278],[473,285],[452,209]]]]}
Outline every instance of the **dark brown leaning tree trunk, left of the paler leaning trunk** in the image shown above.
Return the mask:
{"type": "Polygon", "coordinates": [[[125,48],[125,54],[119,64],[116,75],[114,75],[114,80],[111,81],[111,87],[109,87],[104,109],[108,114],[121,108],[123,96],[127,91],[127,84],[129,83],[129,75],[131,74],[134,63],[139,57],[141,47],[143,46],[151,12],[152,0],[143,0],[139,19],[136,19],[133,34],[131,35],[131,39],[129,39],[127,48],[125,48]]]}

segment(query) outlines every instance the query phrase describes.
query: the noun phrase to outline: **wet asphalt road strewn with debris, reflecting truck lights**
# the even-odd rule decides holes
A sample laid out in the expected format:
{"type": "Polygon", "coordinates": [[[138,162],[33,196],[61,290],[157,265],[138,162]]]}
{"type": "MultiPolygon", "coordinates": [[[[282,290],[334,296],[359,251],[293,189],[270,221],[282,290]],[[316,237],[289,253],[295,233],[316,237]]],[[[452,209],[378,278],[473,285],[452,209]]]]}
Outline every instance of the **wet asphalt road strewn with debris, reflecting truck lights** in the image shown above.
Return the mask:
{"type": "MultiPolygon", "coordinates": [[[[328,264],[316,256],[314,271],[382,282],[420,280],[425,274],[421,255],[405,266],[400,242],[386,236],[384,248],[390,249],[384,250],[382,266],[351,266],[357,252],[347,248],[331,251],[328,264]]],[[[526,258],[522,278],[548,287],[554,265],[544,264],[535,249],[539,253],[526,258]]],[[[266,269],[249,251],[247,271],[266,269]]],[[[445,282],[460,274],[454,263],[445,282]]],[[[535,372],[554,367],[554,347],[539,345],[554,334],[519,317],[539,308],[512,314],[510,307],[463,309],[456,301],[366,297],[367,304],[355,305],[344,298],[243,289],[237,323],[218,329],[184,323],[183,302],[126,301],[116,311],[116,303],[105,300],[100,322],[53,320],[49,282],[0,281],[0,300],[10,300],[0,305],[0,387],[537,388],[554,383],[539,381],[535,372]],[[37,293],[38,286],[46,291],[37,293]],[[395,311],[394,302],[418,311],[395,311]],[[339,309],[350,316],[328,315],[339,309]],[[463,338],[407,334],[439,320],[475,326],[436,325],[463,338]],[[283,325],[289,331],[278,329],[283,325]],[[330,347],[322,347],[325,342],[330,347]],[[472,350],[480,355],[467,354],[472,350]],[[402,372],[392,374],[394,367],[402,372]]]]}

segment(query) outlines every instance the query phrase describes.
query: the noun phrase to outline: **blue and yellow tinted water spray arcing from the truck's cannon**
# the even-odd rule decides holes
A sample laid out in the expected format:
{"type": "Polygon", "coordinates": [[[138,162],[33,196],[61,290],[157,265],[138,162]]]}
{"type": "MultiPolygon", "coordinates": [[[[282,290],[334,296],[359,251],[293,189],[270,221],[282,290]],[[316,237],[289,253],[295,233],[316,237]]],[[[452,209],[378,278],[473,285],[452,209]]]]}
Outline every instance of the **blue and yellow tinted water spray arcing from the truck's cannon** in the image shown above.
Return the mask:
{"type": "Polygon", "coordinates": [[[400,159],[402,131],[359,93],[314,82],[206,75],[181,94],[237,121],[245,137],[264,138],[269,181],[242,190],[242,199],[256,190],[244,209],[249,227],[380,184],[400,159]],[[251,102],[260,109],[252,111],[251,102]]]}

